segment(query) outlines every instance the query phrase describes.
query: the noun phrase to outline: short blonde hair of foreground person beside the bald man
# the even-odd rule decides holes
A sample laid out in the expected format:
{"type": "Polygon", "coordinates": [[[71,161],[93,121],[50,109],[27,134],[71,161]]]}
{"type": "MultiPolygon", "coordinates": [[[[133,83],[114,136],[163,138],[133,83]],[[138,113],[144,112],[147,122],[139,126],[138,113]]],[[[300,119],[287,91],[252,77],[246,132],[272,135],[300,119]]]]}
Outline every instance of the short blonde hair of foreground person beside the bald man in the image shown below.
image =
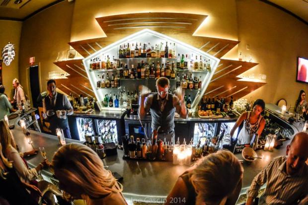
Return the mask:
{"type": "Polygon", "coordinates": [[[243,167],[227,150],[206,156],[193,170],[192,184],[198,193],[197,202],[219,205],[232,194],[241,181],[243,167]]]}

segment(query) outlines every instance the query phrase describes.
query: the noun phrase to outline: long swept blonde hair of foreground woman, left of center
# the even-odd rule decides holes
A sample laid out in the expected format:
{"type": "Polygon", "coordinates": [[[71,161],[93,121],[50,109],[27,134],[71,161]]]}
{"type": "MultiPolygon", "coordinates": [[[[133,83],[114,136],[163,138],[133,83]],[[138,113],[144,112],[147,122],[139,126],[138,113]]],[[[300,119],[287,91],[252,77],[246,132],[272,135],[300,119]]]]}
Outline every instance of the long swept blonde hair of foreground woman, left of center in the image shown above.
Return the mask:
{"type": "MultiPolygon", "coordinates": [[[[110,193],[122,192],[99,156],[89,147],[70,143],[59,148],[52,159],[52,168],[62,172],[66,181],[81,187],[85,198],[99,198],[110,193]]],[[[84,199],[86,200],[86,199],[84,199]]]]}

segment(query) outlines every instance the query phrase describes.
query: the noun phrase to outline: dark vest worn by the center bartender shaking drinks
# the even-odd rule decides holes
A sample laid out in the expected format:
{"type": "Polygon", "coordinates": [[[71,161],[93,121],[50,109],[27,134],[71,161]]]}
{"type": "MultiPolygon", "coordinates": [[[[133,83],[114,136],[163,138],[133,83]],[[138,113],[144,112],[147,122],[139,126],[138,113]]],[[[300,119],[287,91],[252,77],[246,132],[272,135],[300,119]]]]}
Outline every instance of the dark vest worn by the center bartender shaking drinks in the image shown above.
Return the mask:
{"type": "Polygon", "coordinates": [[[173,107],[173,95],[168,93],[168,100],[164,110],[161,112],[157,100],[157,93],[153,95],[151,109],[152,115],[152,130],[157,130],[160,126],[160,131],[168,133],[174,129],[174,114],[175,108],[173,107]]]}

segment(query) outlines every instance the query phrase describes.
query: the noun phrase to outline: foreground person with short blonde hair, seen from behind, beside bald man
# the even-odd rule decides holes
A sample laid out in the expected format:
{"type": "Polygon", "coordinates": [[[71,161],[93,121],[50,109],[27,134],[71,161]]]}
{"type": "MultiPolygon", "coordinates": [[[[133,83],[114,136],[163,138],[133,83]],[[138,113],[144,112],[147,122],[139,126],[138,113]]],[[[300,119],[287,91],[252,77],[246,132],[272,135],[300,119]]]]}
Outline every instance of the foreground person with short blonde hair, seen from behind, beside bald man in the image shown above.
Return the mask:
{"type": "Polygon", "coordinates": [[[242,187],[243,167],[227,150],[200,159],[186,170],[165,205],[235,205],[242,187]]]}

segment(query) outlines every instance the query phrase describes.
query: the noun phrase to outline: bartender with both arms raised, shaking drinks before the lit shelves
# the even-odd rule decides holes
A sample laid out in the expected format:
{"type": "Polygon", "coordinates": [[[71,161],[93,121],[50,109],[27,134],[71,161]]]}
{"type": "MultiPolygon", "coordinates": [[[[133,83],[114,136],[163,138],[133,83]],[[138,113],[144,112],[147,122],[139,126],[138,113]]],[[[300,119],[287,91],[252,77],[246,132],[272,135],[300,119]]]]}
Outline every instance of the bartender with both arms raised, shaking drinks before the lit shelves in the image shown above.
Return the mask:
{"type": "Polygon", "coordinates": [[[181,118],[186,118],[187,110],[183,101],[183,95],[178,96],[168,93],[170,88],[169,79],[159,77],[156,80],[157,93],[141,95],[139,106],[140,118],[143,119],[151,110],[152,130],[157,130],[157,139],[166,138],[167,141],[174,142],[174,115],[177,112],[181,118]],[[148,96],[147,100],[146,97],[148,96]],[[158,129],[159,128],[159,129],[158,129]]]}

